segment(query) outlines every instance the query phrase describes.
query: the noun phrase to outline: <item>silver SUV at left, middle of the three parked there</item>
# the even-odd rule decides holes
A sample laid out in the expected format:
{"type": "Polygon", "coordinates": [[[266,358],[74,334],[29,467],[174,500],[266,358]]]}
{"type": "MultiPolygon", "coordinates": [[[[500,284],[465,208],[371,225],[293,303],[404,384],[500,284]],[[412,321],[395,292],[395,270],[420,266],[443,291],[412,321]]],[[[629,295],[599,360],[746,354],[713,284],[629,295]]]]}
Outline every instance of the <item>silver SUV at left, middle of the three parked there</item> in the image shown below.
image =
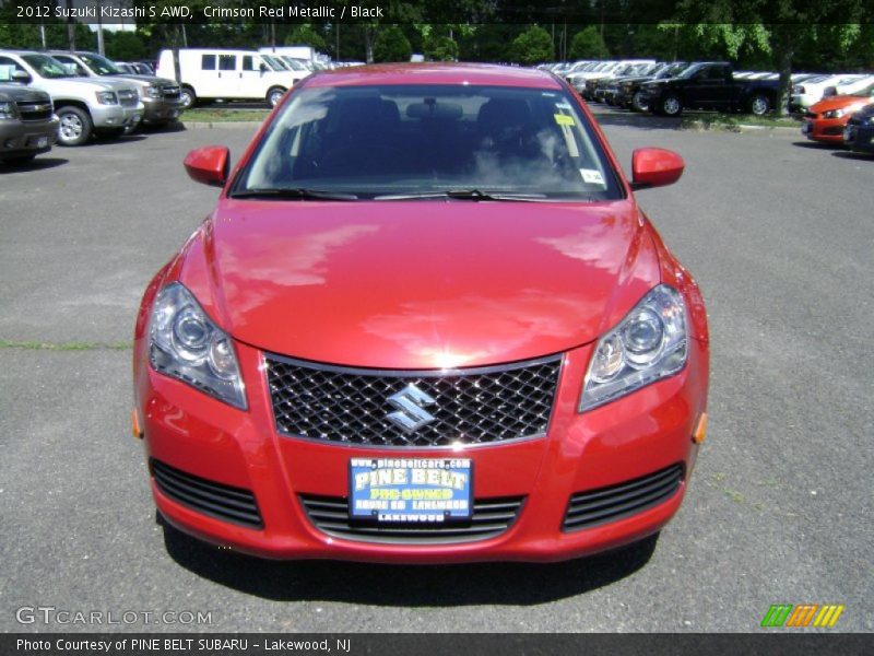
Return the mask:
{"type": "Polygon", "coordinates": [[[144,107],[130,82],[78,78],[57,59],[31,50],[0,50],[0,66],[12,67],[13,82],[51,96],[60,145],[81,145],[92,132],[118,137],[142,120],[144,107]]]}

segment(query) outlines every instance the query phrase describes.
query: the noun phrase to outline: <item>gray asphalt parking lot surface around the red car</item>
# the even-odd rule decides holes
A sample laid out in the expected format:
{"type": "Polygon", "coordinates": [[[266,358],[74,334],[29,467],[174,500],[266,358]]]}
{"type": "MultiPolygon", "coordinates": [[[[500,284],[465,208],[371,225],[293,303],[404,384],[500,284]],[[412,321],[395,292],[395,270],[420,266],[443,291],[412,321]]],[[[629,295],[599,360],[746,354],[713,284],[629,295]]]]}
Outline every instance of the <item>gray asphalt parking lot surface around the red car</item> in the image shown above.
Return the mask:
{"type": "Polygon", "coordinates": [[[265,562],[165,532],[130,436],[126,344],[152,273],[216,197],[184,155],[238,156],[252,128],[151,133],[0,165],[0,630],[735,632],[812,602],[846,605],[831,631],[872,631],[874,161],[800,134],[601,119],[626,166],[642,145],[685,157],[678,184],[638,198],[710,316],[710,431],[658,542],[394,567],[265,562]],[[139,614],[19,623],[37,606],[139,614]],[[143,622],[166,611],[210,622],[143,622]]]}

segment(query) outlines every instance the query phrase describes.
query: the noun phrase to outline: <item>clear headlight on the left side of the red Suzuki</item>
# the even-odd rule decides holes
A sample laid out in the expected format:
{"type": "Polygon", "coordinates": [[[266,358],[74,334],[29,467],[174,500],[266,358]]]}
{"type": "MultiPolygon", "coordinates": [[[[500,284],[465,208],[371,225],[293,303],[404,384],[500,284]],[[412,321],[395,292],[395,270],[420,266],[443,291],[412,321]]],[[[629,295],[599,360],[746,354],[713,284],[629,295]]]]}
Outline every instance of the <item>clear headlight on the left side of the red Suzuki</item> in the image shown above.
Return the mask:
{"type": "Polygon", "coordinates": [[[178,282],[161,290],[152,306],[149,361],[162,374],[246,409],[246,391],[231,338],[178,282]]]}

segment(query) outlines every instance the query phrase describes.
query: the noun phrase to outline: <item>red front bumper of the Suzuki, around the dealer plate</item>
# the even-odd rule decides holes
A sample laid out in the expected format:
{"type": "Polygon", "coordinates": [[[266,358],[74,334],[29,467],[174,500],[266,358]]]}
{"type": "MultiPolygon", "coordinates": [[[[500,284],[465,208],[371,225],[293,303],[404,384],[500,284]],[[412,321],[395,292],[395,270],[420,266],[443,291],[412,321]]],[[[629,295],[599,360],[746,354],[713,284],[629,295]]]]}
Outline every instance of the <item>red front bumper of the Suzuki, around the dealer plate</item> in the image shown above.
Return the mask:
{"type": "MultiPolygon", "coordinates": [[[[477,501],[518,503],[506,529],[472,541],[371,541],[317,527],[303,501],[342,501],[349,494],[350,458],[385,457],[386,449],[277,434],[262,354],[245,344],[236,348],[248,384],[247,411],[155,373],[145,364],[144,340],[138,340],[137,412],[162,515],[200,539],[264,558],[557,561],[633,542],[658,531],[680,507],[698,449],[693,433],[706,412],[707,347],[698,340],[689,340],[688,362],[677,375],[584,413],[578,413],[577,406],[592,345],[571,350],[564,355],[545,437],[470,447],[461,454],[450,448],[401,449],[404,457],[471,458],[477,501]],[[232,503],[235,494],[250,493],[260,525],[244,526],[204,513],[202,503],[180,502],[185,491],[168,495],[176,483],[167,482],[166,476],[155,478],[155,468],[162,467],[181,476],[185,485],[229,494],[232,503]],[[672,476],[675,481],[660,482],[672,476]],[[645,503],[641,490],[649,490],[650,503],[645,503]],[[590,491],[598,491],[597,504],[601,497],[613,504],[606,518],[564,528],[571,496],[590,491]]],[[[390,453],[399,455],[398,449],[390,453]]]]}

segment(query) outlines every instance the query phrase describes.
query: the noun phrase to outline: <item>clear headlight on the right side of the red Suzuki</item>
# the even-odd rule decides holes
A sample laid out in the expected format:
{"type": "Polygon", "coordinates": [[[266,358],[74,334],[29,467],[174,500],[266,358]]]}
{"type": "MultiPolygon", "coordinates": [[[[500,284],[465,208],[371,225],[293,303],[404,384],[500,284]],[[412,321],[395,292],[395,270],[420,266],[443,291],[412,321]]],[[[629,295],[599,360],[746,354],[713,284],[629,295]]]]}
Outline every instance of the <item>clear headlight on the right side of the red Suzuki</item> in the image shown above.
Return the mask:
{"type": "Polygon", "coordinates": [[[686,305],[676,290],[660,284],[599,340],[579,411],[677,373],[685,366],[687,353],[686,305]]]}

